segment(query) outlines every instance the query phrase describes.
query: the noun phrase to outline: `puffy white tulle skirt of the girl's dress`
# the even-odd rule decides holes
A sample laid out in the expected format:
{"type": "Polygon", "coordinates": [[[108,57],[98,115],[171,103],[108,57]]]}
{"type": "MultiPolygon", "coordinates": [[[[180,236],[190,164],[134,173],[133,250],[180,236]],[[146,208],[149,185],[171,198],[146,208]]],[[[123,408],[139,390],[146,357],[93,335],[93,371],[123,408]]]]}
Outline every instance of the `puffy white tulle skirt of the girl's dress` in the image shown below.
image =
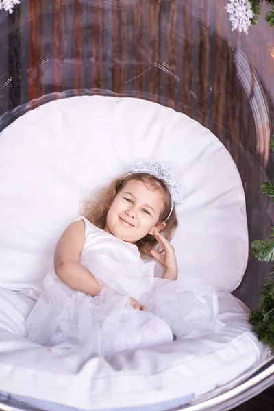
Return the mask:
{"type": "Polygon", "coordinates": [[[140,301],[147,312],[134,310],[129,297],[109,286],[91,297],[71,290],[51,271],[27,319],[28,338],[86,360],[172,343],[174,336],[194,338],[223,326],[216,292],[200,280],[155,278],[140,301]]]}

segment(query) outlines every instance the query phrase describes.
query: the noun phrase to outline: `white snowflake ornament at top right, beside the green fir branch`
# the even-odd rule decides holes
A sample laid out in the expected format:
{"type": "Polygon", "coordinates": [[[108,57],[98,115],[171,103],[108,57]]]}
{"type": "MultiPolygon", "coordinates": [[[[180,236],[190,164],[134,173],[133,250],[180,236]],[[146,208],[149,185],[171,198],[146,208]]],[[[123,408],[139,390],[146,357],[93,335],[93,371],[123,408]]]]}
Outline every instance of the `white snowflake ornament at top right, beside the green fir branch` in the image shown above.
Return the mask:
{"type": "Polygon", "coordinates": [[[229,0],[229,3],[225,6],[225,10],[230,14],[229,20],[232,22],[232,32],[237,30],[245,32],[251,25],[251,19],[253,18],[253,12],[249,0],[229,0]]]}

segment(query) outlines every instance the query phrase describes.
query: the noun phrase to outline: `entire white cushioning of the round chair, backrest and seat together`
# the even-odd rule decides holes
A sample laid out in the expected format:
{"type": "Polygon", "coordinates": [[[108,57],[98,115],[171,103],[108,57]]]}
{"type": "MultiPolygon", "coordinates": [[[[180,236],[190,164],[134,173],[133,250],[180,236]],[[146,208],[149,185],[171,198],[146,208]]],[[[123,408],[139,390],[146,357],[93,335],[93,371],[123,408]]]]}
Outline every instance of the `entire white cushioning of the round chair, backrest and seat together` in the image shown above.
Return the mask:
{"type": "Polygon", "coordinates": [[[74,97],[28,112],[0,136],[0,391],[101,409],[197,397],[227,384],[264,353],[247,308],[227,292],[240,283],[247,251],[238,171],[199,123],[155,103],[112,97],[74,97]],[[173,240],[179,277],[223,289],[225,327],[86,362],[26,340],[25,319],[80,201],[140,160],[158,160],[181,177],[185,201],[173,240]]]}

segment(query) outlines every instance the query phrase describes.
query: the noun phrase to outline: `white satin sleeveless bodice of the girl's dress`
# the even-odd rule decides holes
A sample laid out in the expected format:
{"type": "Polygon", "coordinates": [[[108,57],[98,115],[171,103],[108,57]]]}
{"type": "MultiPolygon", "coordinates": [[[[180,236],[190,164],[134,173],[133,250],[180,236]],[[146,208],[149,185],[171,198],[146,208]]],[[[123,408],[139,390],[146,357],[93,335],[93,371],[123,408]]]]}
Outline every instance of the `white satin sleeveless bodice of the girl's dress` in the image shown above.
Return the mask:
{"type": "Polygon", "coordinates": [[[138,247],[99,229],[81,216],[85,223],[86,242],[80,257],[100,284],[123,295],[140,299],[153,287],[155,262],[144,262],[138,247]]]}

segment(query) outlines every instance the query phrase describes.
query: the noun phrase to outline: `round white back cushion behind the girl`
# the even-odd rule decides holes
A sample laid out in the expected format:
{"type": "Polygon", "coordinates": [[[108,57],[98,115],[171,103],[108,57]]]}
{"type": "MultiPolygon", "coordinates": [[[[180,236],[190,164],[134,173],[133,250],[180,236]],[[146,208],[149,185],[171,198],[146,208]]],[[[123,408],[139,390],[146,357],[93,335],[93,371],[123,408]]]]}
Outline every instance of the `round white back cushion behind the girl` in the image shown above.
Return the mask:
{"type": "Polygon", "coordinates": [[[92,190],[140,161],[180,177],[179,277],[234,290],[248,256],[245,195],[225,147],[188,116],[132,98],[71,97],[0,135],[0,286],[37,297],[55,243],[92,190]]]}

